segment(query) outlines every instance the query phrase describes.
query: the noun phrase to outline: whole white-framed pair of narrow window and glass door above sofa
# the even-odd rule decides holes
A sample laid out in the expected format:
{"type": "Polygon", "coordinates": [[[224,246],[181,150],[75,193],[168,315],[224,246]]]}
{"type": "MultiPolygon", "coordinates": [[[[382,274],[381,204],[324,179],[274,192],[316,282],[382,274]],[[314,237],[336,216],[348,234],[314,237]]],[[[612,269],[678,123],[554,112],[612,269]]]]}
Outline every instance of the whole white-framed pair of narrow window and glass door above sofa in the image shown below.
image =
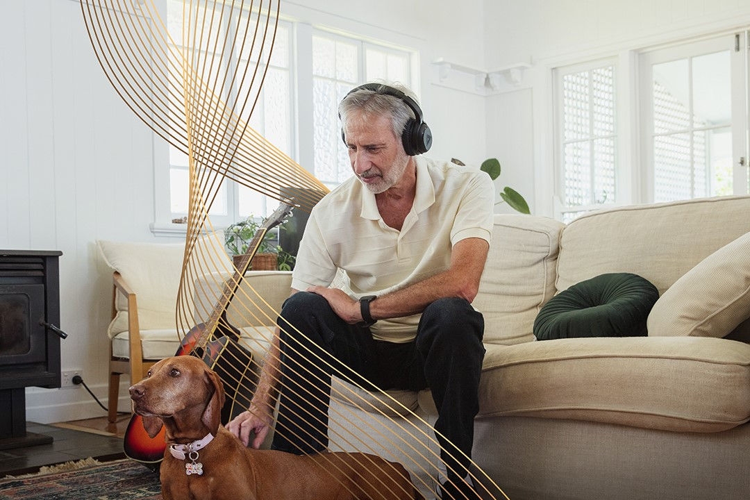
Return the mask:
{"type": "Polygon", "coordinates": [[[748,193],[747,39],[554,68],[554,216],[748,193]]]}

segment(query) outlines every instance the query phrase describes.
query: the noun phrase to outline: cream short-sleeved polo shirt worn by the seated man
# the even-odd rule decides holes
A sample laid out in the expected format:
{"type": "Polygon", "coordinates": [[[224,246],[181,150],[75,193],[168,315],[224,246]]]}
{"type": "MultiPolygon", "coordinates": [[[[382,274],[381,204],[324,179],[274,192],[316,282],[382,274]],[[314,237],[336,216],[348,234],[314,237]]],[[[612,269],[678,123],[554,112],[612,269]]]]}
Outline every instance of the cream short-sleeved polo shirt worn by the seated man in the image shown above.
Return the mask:
{"type": "MultiPolygon", "coordinates": [[[[415,157],[416,196],[401,231],[380,217],[375,195],[355,177],[327,194],[310,214],[292,275],[292,288],[329,286],[339,269],[352,298],[385,295],[446,271],[454,244],[490,242],[495,189],[490,176],[454,163],[415,157]]],[[[421,315],[381,319],[379,340],[416,337],[421,315]]]]}

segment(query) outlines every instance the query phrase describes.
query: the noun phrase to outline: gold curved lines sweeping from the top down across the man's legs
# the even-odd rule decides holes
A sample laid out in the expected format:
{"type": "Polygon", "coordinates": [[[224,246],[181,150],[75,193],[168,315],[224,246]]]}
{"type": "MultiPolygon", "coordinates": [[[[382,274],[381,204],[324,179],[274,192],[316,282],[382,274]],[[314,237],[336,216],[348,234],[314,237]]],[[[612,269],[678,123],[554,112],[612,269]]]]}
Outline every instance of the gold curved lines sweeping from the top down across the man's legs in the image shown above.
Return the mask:
{"type": "MultiPolygon", "coordinates": [[[[234,415],[248,407],[260,367],[273,355],[275,333],[268,325],[276,324],[279,312],[264,300],[263,290],[243,279],[253,244],[245,259],[233,264],[208,216],[211,205],[227,179],[302,211],[310,211],[328,192],[248,124],[271,63],[279,0],[80,0],[80,5],[95,55],[115,91],[157,136],[187,154],[187,236],[175,324],[183,340],[197,331],[190,345],[193,354],[219,337],[233,339],[229,346],[242,346],[220,348],[220,355],[237,368],[222,376],[224,385],[235,389],[227,391],[234,415]],[[173,10],[167,16],[167,2],[181,7],[181,16],[175,17],[173,10]],[[233,323],[240,321],[249,326],[235,328],[233,323]]],[[[256,235],[255,246],[262,236],[256,235]]],[[[263,275],[257,280],[263,284],[263,275]]],[[[305,332],[299,334],[305,337],[305,332]]],[[[421,415],[386,391],[363,388],[302,344],[284,347],[317,358],[335,374],[330,400],[323,393],[305,394],[329,407],[329,449],[378,454],[401,463],[419,490],[434,492],[445,471],[440,472],[434,430],[421,415]]],[[[281,412],[292,411],[284,403],[279,406],[281,412]]],[[[317,415],[306,416],[320,421],[317,415]]],[[[275,432],[292,431],[277,427],[275,432]]],[[[470,477],[483,498],[508,498],[475,463],[470,477]]],[[[403,495],[383,492],[384,499],[403,495]]]]}

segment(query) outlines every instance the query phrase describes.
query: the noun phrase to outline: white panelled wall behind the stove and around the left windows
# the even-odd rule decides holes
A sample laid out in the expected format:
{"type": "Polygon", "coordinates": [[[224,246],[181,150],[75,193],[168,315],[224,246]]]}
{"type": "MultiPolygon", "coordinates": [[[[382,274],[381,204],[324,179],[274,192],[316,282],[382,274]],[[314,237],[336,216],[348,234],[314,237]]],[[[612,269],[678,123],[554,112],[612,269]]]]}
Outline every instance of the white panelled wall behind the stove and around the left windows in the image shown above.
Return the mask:
{"type": "MultiPolygon", "coordinates": [[[[431,61],[482,64],[481,0],[299,0],[285,13],[382,38],[409,40],[422,55],[422,103],[434,153],[477,161],[484,149],[484,100],[431,85],[431,61]],[[326,9],[325,11],[321,9],[326,9]],[[431,15],[426,15],[427,11],[431,15]],[[432,20],[428,20],[432,19],[432,20]]],[[[161,139],[107,82],[77,0],[0,0],[0,249],[62,250],[62,370],[83,370],[106,404],[111,273],[97,239],[166,241],[154,220],[154,148],[161,139]]],[[[123,382],[123,388],[127,382],[123,382]]],[[[27,418],[54,422],[104,415],[83,388],[27,391],[27,418]]],[[[121,409],[127,409],[121,391],[121,409]]]]}

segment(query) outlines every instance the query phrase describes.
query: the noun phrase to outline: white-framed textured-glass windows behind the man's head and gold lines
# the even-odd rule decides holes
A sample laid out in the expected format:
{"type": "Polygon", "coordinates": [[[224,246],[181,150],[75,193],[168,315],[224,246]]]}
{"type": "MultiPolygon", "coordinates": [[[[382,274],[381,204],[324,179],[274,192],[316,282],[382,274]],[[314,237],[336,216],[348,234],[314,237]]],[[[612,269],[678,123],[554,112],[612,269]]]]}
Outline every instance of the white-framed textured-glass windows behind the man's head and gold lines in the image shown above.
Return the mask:
{"type": "MultiPolygon", "coordinates": [[[[167,19],[172,38],[178,40],[175,43],[181,40],[182,8],[181,1],[169,0],[167,19]]],[[[227,21],[217,28],[219,34],[223,36],[226,31],[233,34],[242,30],[247,15],[243,11],[231,19],[227,16],[227,21]]],[[[335,187],[351,175],[347,148],[341,140],[338,103],[354,86],[373,79],[402,82],[414,88],[416,55],[413,50],[388,43],[300,26],[291,21],[280,20],[278,23],[272,59],[257,106],[252,115],[246,109],[242,118],[250,118],[251,127],[285,154],[311,169],[324,184],[335,187]],[[307,47],[312,48],[311,52],[307,47]],[[311,61],[294,64],[295,54],[300,52],[311,53],[311,61]],[[312,106],[297,106],[296,88],[312,89],[309,94],[312,106]],[[311,134],[309,158],[305,151],[298,151],[296,133],[311,134]],[[299,158],[300,155],[303,159],[299,158]]],[[[175,49],[184,47],[176,45],[175,49]]],[[[229,61],[224,64],[247,59],[246,54],[239,53],[239,47],[227,46],[227,50],[232,49],[236,52],[220,58],[229,61]]],[[[223,98],[242,99],[248,91],[252,94],[256,89],[244,88],[236,82],[223,98]]],[[[157,193],[157,221],[161,222],[157,226],[165,226],[163,223],[167,220],[179,220],[187,215],[187,154],[169,146],[168,161],[168,178],[156,183],[157,186],[166,186],[169,191],[168,199],[157,193]]],[[[209,213],[214,225],[226,226],[251,214],[264,217],[266,211],[271,211],[275,205],[274,200],[226,179],[209,213]]]]}

